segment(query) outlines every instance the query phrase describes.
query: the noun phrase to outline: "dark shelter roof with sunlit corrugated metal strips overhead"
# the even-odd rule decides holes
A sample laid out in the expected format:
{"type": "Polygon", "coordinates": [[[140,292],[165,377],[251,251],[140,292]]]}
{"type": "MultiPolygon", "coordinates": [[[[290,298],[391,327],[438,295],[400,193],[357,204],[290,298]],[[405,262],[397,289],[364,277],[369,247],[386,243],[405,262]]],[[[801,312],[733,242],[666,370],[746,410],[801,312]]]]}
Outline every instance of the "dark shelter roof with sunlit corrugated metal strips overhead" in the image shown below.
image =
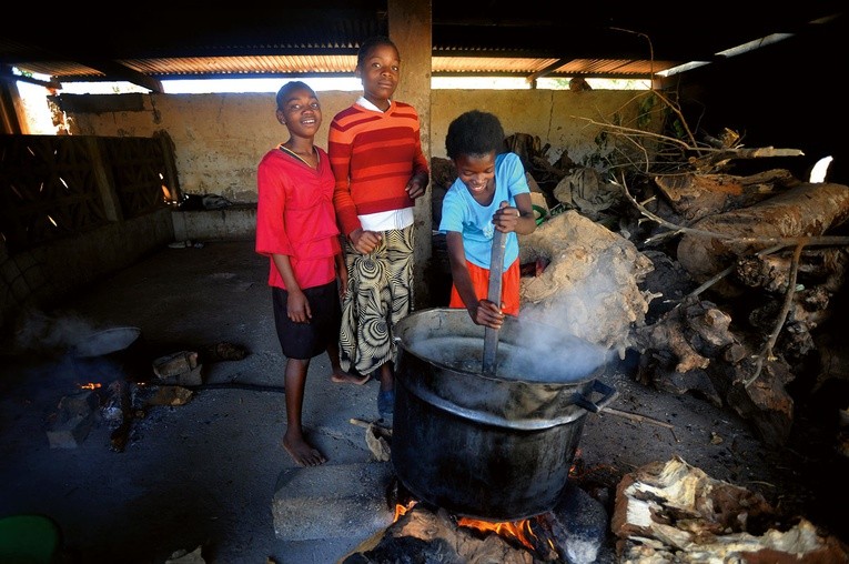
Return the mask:
{"type": "MultiPolygon", "coordinates": [[[[645,8],[431,2],[433,75],[526,79],[653,78],[689,61],[720,61],[718,53],[769,33],[817,33],[818,26],[842,17],[842,3],[831,0],[749,16],[726,0],[691,14],[663,0],[645,8]]],[[[46,17],[40,3],[21,8],[33,13],[18,21],[46,17]]],[[[61,26],[8,26],[0,38],[0,78],[10,77],[11,66],[59,83],[130,80],[146,88],[175,78],[351,77],[358,42],[387,32],[385,0],[100,16],[64,9],[61,26]]],[[[58,21],[54,13],[47,17],[58,21]]],[[[792,68],[799,64],[792,61],[792,68]]]]}

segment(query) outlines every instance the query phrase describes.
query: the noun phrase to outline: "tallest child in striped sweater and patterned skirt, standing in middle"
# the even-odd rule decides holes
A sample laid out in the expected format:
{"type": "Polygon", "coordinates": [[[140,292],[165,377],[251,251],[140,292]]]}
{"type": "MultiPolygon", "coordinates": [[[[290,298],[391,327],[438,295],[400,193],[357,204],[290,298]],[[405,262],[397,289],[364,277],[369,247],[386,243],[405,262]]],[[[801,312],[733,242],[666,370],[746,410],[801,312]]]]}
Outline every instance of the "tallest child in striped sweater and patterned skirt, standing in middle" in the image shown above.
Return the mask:
{"type": "Polygon", "coordinates": [[[356,63],[363,95],[333,118],[327,138],[348,271],[342,365],[377,373],[384,419],[392,416],[395,402],[392,328],[413,304],[413,210],[429,178],[418,113],[392,99],[400,70],[401,56],[388,38],[364,41],[356,63]]]}

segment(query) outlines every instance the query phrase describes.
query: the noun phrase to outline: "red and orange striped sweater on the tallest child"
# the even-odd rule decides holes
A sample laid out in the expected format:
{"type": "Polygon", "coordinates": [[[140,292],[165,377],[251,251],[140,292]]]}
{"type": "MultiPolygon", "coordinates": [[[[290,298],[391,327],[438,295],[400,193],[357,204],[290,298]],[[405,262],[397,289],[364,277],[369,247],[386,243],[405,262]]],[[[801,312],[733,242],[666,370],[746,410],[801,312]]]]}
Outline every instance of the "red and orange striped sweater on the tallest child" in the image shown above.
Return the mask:
{"type": "Polygon", "coordinates": [[[429,173],[418,113],[404,102],[393,101],[385,112],[357,104],[342,110],[331,122],[327,153],[336,178],[333,204],[345,235],[362,226],[357,214],[412,208],[407,182],[429,173]]]}

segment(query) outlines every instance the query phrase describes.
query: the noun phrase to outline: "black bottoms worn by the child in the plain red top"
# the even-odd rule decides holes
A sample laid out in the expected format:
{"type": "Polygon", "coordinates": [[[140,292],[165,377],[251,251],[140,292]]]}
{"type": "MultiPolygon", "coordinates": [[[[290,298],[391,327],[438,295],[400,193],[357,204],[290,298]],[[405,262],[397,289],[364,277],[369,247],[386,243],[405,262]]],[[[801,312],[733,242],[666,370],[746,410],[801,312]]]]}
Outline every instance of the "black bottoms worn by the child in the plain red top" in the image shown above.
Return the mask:
{"type": "Polygon", "coordinates": [[[289,292],[272,286],[274,325],[283,354],[289,359],[312,359],[327,350],[330,343],[338,342],[342,308],[336,281],[323,286],[307,288],[304,295],[310,301],[313,318],[310,323],[293,323],[286,315],[289,292]]]}

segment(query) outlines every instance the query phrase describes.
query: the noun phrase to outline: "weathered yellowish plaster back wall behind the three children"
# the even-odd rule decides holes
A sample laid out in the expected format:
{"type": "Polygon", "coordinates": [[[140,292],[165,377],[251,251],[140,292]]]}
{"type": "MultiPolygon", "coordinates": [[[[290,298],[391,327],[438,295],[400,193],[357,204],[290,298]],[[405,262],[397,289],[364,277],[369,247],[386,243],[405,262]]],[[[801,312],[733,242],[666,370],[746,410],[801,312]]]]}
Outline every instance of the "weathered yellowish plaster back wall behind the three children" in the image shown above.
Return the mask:
{"type": "MultiPolygon", "coordinates": [[[[117,108],[115,97],[124,95],[140,94],[102,94],[104,107],[109,99],[105,109],[97,109],[97,94],[88,94],[84,105],[72,103],[74,94],[60,97],[71,133],[150,137],[166,131],[174,142],[180,189],[184,193],[255,202],[256,164],[266,151],[289,138],[286,128],[274,117],[273,93],[151,93],[141,95],[141,104],[117,108]],[[75,105],[84,111],[74,110],[75,105]]],[[[319,145],[327,147],[330,121],[357,95],[358,92],[319,92],[324,122],[316,137],[319,145]]],[[[598,150],[595,138],[600,125],[588,120],[609,123],[618,114],[618,119],[628,122],[636,115],[641,95],[647,92],[433,90],[429,140],[424,142],[429,144],[432,157],[444,158],[451,121],[464,111],[478,109],[498,115],[507,135],[527,133],[538,137],[540,145],[550,143],[549,161],[568,151],[575,162],[583,162],[598,150]]]]}

